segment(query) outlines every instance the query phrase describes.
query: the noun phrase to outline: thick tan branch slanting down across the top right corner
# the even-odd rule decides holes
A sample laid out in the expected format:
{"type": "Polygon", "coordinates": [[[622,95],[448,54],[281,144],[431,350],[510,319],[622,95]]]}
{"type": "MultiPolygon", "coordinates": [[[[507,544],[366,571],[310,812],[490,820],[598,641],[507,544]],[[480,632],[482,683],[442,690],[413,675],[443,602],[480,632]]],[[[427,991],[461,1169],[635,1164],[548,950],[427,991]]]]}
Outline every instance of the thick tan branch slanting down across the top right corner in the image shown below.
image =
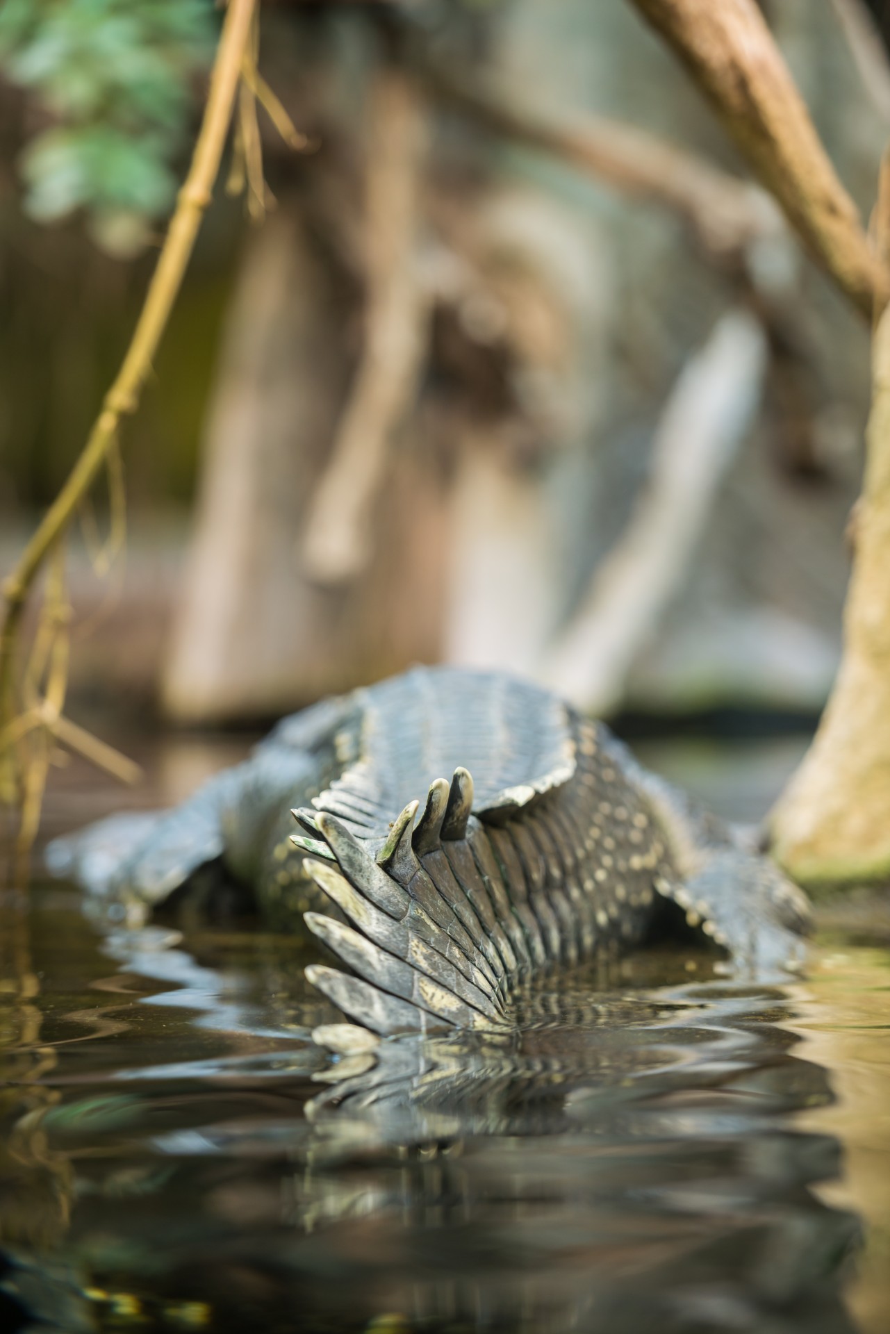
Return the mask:
{"type": "Polygon", "coordinates": [[[871,319],[871,252],[755,0],[631,0],[674,48],[811,255],[871,319]]]}

